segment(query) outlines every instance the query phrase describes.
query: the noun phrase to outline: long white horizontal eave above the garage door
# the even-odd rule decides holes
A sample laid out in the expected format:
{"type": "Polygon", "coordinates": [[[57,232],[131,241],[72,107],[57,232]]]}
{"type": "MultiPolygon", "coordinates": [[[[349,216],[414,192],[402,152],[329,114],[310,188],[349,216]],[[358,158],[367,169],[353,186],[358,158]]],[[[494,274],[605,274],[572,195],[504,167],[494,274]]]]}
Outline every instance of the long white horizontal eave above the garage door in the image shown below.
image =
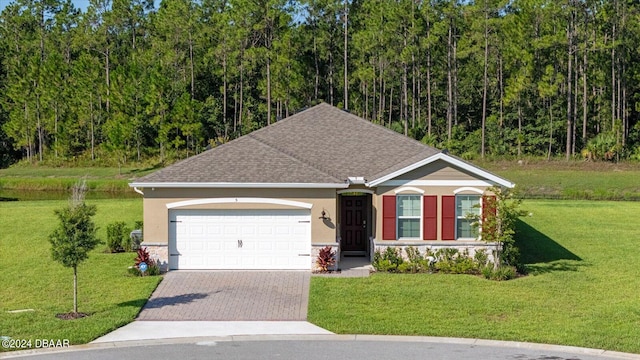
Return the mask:
{"type": "Polygon", "coordinates": [[[347,183],[236,183],[236,182],[132,182],[131,188],[171,188],[171,189],[208,189],[208,188],[259,188],[259,189],[346,189],[347,183]]]}

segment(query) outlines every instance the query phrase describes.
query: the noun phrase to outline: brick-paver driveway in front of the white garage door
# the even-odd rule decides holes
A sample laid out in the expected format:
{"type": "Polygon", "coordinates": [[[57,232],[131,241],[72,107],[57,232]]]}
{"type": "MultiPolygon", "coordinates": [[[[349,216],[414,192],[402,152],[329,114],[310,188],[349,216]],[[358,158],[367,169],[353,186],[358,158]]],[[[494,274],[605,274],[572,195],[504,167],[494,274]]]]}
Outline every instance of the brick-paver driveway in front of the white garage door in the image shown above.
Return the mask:
{"type": "Polygon", "coordinates": [[[309,271],[170,271],[138,320],[303,321],[309,271]]]}

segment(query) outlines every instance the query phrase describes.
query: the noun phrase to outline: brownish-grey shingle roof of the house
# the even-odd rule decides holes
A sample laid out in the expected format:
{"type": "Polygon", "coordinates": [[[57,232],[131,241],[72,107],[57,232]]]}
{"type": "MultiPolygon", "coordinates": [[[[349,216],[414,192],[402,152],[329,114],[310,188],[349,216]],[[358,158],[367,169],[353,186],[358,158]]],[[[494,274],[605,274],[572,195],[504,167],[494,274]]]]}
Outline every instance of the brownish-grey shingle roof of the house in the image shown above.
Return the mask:
{"type": "Polygon", "coordinates": [[[143,183],[346,183],[439,151],[321,103],[138,179],[143,183]]]}

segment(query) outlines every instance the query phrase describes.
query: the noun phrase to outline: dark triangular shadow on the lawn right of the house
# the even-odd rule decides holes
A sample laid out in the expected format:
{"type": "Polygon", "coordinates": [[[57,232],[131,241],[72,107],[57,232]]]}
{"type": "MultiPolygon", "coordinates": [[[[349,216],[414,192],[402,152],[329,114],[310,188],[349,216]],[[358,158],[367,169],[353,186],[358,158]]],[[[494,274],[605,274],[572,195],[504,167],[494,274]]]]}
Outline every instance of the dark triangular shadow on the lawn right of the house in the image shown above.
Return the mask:
{"type": "Polygon", "coordinates": [[[521,260],[533,274],[576,271],[582,259],[522,220],[516,222],[516,246],[521,260]]]}

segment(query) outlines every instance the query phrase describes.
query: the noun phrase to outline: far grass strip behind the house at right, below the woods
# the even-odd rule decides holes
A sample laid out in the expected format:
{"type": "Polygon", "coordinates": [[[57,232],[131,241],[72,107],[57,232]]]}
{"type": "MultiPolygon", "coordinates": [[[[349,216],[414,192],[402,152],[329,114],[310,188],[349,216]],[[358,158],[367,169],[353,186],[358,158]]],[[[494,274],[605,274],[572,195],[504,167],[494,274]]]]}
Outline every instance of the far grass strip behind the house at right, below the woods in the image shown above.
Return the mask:
{"type": "Polygon", "coordinates": [[[516,183],[524,198],[640,200],[640,164],[584,161],[478,163],[516,183]]]}

